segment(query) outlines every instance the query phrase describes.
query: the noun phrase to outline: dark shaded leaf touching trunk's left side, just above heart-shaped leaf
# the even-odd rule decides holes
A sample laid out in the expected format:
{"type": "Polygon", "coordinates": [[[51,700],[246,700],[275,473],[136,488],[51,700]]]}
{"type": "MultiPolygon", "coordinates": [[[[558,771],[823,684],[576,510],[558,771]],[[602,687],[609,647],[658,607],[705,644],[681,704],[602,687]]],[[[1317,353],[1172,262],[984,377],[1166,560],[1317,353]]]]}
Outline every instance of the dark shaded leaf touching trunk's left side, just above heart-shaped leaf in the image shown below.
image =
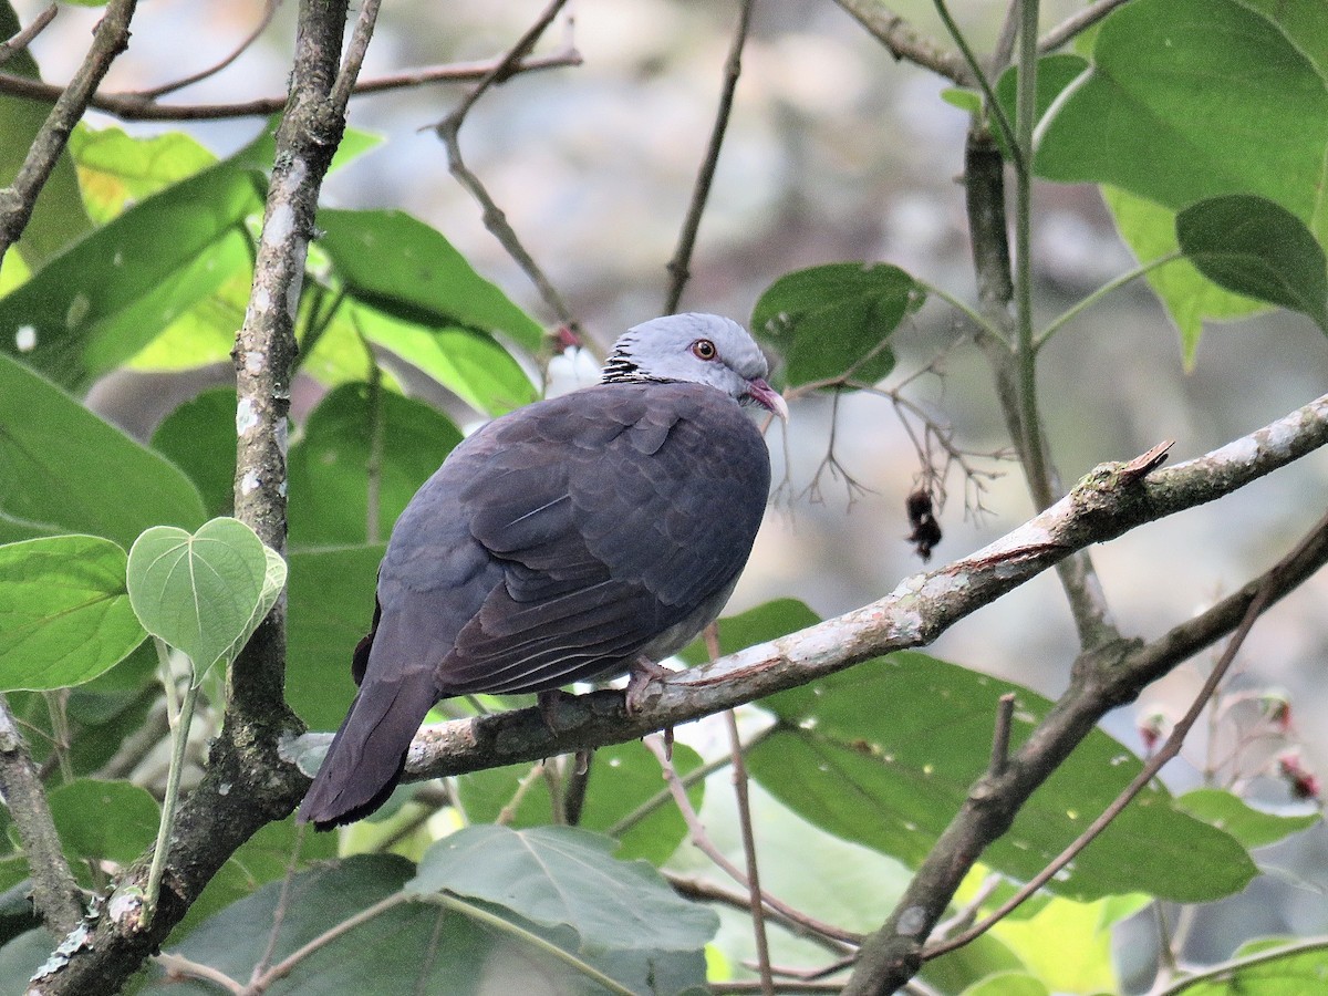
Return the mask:
{"type": "Polygon", "coordinates": [[[153,449],[189,474],[207,515],[235,510],[235,388],[205,390],[167,414],[153,449]]]}

